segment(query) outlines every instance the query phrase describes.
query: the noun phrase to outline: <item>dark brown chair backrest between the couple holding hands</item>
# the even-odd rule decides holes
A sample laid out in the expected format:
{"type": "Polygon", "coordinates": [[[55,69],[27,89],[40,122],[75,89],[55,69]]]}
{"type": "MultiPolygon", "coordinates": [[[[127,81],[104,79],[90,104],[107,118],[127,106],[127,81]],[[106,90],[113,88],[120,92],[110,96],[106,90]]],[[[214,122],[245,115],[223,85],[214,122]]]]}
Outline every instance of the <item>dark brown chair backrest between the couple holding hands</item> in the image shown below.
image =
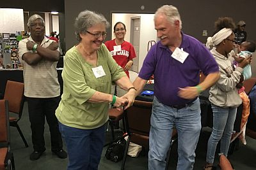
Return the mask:
{"type": "Polygon", "coordinates": [[[134,138],[133,140],[131,138],[133,143],[137,143],[138,145],[145,145],[145,143],[147,143],[146,145],[148,145],[151,111],[152,102],[136,100],[132,106],[126,110],[129,126],[128,131],[132,133],[132,136],[141,136],[140,139],[134,138]]]}

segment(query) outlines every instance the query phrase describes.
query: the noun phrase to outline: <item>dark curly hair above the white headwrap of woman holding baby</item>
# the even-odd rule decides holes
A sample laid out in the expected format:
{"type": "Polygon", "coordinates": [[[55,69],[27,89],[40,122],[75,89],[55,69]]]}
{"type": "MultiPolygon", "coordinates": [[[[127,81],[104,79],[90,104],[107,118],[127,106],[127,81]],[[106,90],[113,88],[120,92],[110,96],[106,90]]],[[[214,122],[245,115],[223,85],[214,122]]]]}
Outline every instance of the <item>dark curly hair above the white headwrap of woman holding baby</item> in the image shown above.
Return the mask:
{"type": "Polygon", "coordinates": [[[216,20],[216,22],[214,22],[214,28],[214,34],[219,32],[223,28],[230,28],[234,31],[234,29],[236,28],[236,24],[234,20],[230,17],[220,17],[218,18],[218,20],[216,20]]]}

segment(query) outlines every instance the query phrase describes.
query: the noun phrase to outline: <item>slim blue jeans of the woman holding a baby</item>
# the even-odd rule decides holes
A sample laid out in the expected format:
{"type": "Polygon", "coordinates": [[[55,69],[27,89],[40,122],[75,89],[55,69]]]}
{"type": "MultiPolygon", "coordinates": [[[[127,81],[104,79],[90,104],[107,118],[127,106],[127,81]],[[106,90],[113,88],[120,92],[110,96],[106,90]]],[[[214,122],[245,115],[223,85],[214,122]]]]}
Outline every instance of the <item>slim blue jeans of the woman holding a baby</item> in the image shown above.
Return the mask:
{"type": "Polygon", "coordinates": [[[214,104],[211,105],[213,113],[213,127],[212,134],[208,141],[206,161],[213,164],[216,147],[219,141],[220,153],[224,153],[226,157],[228,155],[228,148],[230,145],[234,122],[236,120],[237,108],[222,108],[214,104]]]}

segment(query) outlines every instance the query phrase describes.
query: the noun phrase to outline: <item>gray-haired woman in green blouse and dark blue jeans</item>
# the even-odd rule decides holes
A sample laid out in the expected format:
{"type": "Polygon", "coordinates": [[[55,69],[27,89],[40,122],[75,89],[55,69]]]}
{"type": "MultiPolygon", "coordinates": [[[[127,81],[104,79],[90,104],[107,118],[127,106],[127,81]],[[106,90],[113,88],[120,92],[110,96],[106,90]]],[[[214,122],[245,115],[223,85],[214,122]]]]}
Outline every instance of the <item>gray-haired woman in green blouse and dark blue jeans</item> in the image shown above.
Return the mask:
{"type": "Polygon", "coordinates": [[[79,43],[65,54],[63,95],[56,110],[68,152],[68,170],[97,169],[105,139],[109,103],[128,108],[136,89],[102,42],[108,21],[93,11],[82,11],[75,21],[79,43]],[[111,95],[111,82],[127,90],[111,95]]]}

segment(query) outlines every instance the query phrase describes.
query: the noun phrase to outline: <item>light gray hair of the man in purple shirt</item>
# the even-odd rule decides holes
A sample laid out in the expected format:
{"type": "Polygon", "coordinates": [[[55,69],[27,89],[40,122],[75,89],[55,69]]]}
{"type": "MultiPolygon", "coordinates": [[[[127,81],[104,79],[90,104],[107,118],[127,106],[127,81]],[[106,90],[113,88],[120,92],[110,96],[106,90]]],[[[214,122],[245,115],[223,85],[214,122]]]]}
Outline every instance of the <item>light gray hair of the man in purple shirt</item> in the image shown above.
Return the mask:
{"type": "Polygon", "coordinates": [[[182,29],[182,21],[180,19],[180,14],[178,9],[175,6],[172,5],[163,5],[160,8],[157,9],[154,20],[156,20],[157,15],[164,14],[168,21],[170,21],[172,24],[174,24],[175,20],[179,20],[180,22],[180,29],[182,29]]]}

